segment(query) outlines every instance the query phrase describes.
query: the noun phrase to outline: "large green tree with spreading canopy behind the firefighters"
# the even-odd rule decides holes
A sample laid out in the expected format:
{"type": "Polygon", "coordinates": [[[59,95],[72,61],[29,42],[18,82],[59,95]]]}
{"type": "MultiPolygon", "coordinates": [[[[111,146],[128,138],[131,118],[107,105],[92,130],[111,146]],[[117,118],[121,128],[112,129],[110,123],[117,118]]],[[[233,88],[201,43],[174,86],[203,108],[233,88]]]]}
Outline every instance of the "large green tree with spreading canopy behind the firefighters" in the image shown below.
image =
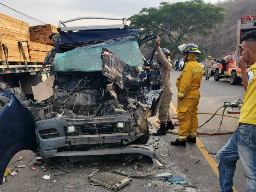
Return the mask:
{"type": "Polygon", "coordinates": [[[157,34],[162,39],[162,47],[177,50],[179,44],[187,43],[195,33],[209,31],[215,24],[223,22],[225,14],[223,7],[191,0],[161,2],[158,8],[143,8],[128,20],[129,27],[138,27],[140,35],[157,34]]]}

